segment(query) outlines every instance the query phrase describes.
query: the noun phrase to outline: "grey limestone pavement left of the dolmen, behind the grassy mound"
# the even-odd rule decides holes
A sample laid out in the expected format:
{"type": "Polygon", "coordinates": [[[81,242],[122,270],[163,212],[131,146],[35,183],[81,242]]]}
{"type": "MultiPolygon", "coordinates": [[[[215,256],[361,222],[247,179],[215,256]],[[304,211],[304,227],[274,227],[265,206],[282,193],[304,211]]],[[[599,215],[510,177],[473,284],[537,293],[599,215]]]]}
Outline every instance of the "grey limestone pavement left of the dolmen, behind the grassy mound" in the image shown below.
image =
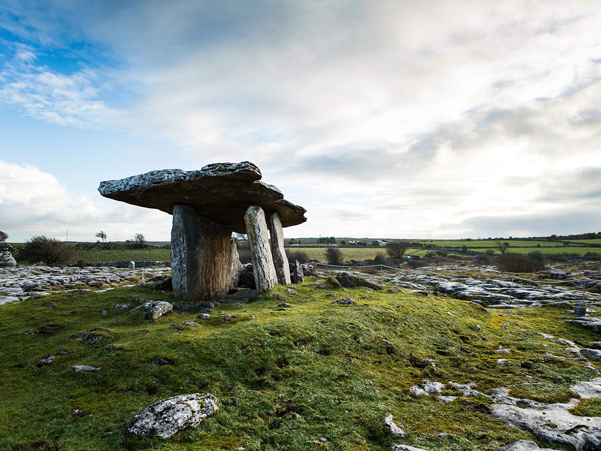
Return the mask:
{"type": "Polygon", "coordinates": [[[0,305],[40,298],[57,291],[87,293],[138,284],[148,278],[171,272],[171,268],[144,269],[79,268],[66,266],[17,266],[0,268],[0,305]]]}

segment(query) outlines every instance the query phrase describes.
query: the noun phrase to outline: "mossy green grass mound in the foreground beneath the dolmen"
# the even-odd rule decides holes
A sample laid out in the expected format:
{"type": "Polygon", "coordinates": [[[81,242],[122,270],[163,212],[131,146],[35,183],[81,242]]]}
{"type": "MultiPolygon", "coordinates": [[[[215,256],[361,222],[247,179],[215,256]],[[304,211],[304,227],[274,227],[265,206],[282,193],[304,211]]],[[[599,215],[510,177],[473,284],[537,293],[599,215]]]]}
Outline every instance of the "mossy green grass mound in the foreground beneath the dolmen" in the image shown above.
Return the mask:
{"type": "MultiPolygon", "coordinates": [[[[510,394],[555,402],[573,396],[568,388],[574,382],[596,376],[582,364],[545,355],[570,357],[566,345],[538,333],[580,345],[596,339],[557,318],[565,314],[562,308],[487,312],[451,298],[320,289],[314,281],[293,286],[299,296],[278,286],[246,305],[222,304],[209,321],[192,312],[144,319],[134,309],[136,296],[173,301],[147,287],[76,298],[57,293],[1,306],[0,449],[46,439],[61,451],[383,451],[395,441],[383,429],[392,414],[406,431],[406,438],[396,439],[401,443],[429,450],[495,450],[534,437],[490,417],[486,398],[443,404],[435,396],[413,396],[409,387],[423,379],[475,382],[480,391],[528,382],[532,385],[517,385],[510,394]],[[276,295],[293,306],[279,307],[276,295]],[[347,297],[355,305],[331,303],[347,297]],[[129,310],[114,307],[127,303],[129,310]],[[220,311],[234,318],[224,321],[220,311]],[[50,327],[51,334],[25,335],[47,324],[59,327],[50,327]],[[102,336],[90,340],[96,346],[70,338],[87,331],[102,336]],[[496,354],[499,346],[512,354],[496,354]],[[50,366],[36,366],[49,355],[57,356],[50,366]],[[499,357],[507,361],[498,364],[499,357]],[[74,372],[76,364],[102,369],[74,372]],[[124,431],[123,423],[140,408],[196,392],[215,394],[220,407],[198,428],[169,440],[124,431]],[[328,442],[320,443],[321,437],[328,442]]],[[[599,416],[601,406],[589,402],[585,411],[599,416]]]]}

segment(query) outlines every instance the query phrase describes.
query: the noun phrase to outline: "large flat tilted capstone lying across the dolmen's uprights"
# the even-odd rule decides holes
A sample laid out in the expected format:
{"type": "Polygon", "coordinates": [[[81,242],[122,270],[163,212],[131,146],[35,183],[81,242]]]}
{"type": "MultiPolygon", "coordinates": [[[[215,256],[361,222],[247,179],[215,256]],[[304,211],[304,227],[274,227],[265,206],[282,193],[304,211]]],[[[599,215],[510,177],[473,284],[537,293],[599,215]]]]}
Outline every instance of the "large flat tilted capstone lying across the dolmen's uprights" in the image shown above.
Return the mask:
{"type": "Polygon", "coordinates": [[[100,194],[132,205],[172,214],[178,204],[194,208],[201,221],[217,222],[246,233],[244,214],[250,205],[266,215],[278,212],[282,227],[307,221],[306,210],[284,200],[278,188],[261,182],[261,171],[248,161],[213,163],[200,171],[165,169],[121,180],[101,182],[100,194]]]}

